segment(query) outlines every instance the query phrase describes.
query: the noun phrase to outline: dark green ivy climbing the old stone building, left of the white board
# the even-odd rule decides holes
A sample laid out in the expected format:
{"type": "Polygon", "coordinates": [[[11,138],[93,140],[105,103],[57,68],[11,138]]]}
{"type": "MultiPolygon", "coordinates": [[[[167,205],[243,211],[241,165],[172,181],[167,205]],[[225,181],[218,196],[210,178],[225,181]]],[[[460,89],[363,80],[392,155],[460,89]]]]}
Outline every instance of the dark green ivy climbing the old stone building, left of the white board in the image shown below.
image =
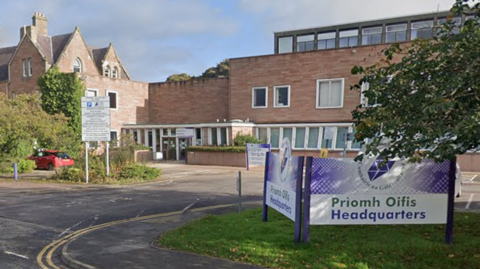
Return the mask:
{"type": "Polygon", "coordinates": [[[81,138],[81,97],[85,91],[83,83],[75,73],[61,73],[53,67],[38,79],[41,105],[48,114],[62,113],[68,117],[68,126],[78,139],[81,138]]]}

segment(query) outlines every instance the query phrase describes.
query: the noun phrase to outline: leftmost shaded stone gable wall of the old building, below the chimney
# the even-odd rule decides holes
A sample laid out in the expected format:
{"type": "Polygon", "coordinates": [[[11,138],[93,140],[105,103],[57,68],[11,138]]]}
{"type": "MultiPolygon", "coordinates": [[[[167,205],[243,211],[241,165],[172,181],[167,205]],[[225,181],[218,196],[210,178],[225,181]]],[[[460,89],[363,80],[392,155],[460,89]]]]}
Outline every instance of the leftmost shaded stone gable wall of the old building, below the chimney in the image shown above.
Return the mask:
{"type": "Polygon", "coordinates": [[[18,95],[22,93],[32,94],[38,91],[40,87],[37,85],[37,80],[45,71],[46,62],[43,60],[43,56],[38,52],[30,38],[25,37],[10,65],[9,96],[12,96],[12,92],[18,95]],[[22,62],[28,58],[32,60],[32,76],[24,77],[22,62]]]}

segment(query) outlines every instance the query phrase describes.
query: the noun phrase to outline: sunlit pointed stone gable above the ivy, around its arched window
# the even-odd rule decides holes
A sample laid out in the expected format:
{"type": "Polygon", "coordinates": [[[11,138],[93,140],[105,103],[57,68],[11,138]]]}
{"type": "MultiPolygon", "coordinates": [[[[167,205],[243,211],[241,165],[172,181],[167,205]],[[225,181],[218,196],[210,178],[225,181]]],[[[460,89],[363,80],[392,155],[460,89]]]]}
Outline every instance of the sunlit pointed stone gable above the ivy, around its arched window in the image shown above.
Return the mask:
{"type": "Polygon", "coordinates": [[[73,62],[77,57],[82,62],[82,75],[100,74],[78,30],[73,32],[69,45],[67,45],[60,58],[55,60],[56,65],[61,72],[72,73],[73,62]]]}

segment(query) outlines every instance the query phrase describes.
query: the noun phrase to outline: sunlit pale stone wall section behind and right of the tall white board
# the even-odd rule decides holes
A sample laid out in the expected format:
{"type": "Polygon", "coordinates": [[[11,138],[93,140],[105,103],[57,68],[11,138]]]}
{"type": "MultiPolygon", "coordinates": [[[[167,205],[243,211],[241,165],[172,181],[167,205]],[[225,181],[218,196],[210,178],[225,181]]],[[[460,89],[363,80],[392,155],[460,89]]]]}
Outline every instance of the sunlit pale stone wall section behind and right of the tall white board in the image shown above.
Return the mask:
{"type": "MultiPolygon", "coordinates": [[[[148,83],[102,76],[87,76],[85,85],[98,90],[98,96],[106,96],[107,90],[117,92],[118,110],[112,109],[111,129],[120,136],[122,124],[146,124],[148,115],[148,83]]],[[[143,141],[143,140],[142,140],[143,141]]]]}

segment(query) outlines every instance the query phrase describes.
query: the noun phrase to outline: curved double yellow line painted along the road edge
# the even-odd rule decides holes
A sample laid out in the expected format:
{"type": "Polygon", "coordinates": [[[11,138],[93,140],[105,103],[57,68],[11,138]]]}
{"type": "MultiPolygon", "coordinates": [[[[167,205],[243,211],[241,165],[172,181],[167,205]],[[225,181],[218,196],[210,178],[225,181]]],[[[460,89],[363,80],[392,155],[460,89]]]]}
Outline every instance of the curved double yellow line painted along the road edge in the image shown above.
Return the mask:
{"type": "MultiPolygon", "coordinates": [[[[234,204],[226,204],[226,205],[216,205],[216,206],[207,206],[207,207],[201,207],[201,208],[196,208],[190,210],[191,212],[199,212],[199,211],[205,211],[209,209],[217,209],[217,208],[224,208],[224,207],[229,207],[233,206],[234,204]]],[[[142,221],[142,220],[149,220],[149,219],[155,219],[155,218],[161,218],[161,217],[170,217],[174,215],[180,215],[182,214],[182,211],[173,211],[173,212],[167,212],[167,213],[161,213],[161,214],[155,214],[155,215],[149,215],[149,216],[143,216],[143,217],[138,217],[138,218],[129,218],[129,219],[123,219],[123,220],[117,220],[117,221],[112,221],[112,222],[107,222],[95,226],[91,226],[88,228],[84,228],[81,230],[78,230],[76,232],[73,232],[69,235],[66,235],[51,244],[47,245],[38,253],[37,255],[37,263],[42,269],[60,269],[60,267],[56,266],[53,261],[52,261],[52,256],[55,251],[65,245],[66,243],[75,240],[76,238],[85,235],[87,233],[100,230],[106,227],[122,224],[122,223],[128,223],[128,222],[135,222],[135,221],[142,221]],[[43,262],[45,258],[45,261],[47,265],[43,262]]]]}

